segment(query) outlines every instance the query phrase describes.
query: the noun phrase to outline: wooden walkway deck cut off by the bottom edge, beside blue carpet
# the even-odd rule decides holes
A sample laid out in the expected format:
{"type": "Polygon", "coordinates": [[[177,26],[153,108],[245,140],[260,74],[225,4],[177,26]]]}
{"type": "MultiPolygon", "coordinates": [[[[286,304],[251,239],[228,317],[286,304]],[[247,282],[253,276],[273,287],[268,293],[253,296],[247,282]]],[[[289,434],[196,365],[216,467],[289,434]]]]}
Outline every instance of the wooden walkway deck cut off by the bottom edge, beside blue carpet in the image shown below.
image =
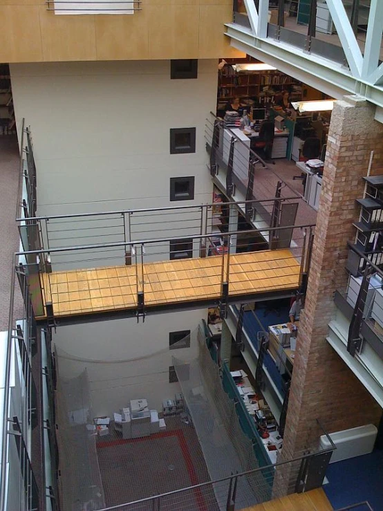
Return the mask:
{"type": "Polygon", "coordinates": [[[254,505],[242,511],[333,511],[322,488],[306,493],[294,493],[281,499],[254,505]]]}

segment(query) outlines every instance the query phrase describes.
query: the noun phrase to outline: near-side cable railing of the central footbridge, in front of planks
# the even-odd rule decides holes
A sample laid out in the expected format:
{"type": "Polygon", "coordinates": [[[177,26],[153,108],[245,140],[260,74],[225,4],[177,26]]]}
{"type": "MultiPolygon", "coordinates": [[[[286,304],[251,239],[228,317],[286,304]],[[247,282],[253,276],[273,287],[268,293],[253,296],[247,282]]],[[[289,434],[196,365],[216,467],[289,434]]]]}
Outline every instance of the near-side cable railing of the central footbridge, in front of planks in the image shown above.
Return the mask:
{"type": "Polygon", "coordinates": [[[46,315],[50,303],[56,315],[118,308],[144,315],[145,307],[183,301],[225,304],[229,296],[249,293],[290,296],[308,270],[312,229],[307,224],[265,228],[260,239],[251,239],[254,230],[222,232],[217,245],[209,244],[211,234],[198,234],[30,250],[19,253],[24,264],[18,271],[32,286],[37,317],[46,315]],[[289,249],[286,233],[299,239],[301,248],[289,249]],[[250,241],[235,247],[239,236],[250,241]]]}

